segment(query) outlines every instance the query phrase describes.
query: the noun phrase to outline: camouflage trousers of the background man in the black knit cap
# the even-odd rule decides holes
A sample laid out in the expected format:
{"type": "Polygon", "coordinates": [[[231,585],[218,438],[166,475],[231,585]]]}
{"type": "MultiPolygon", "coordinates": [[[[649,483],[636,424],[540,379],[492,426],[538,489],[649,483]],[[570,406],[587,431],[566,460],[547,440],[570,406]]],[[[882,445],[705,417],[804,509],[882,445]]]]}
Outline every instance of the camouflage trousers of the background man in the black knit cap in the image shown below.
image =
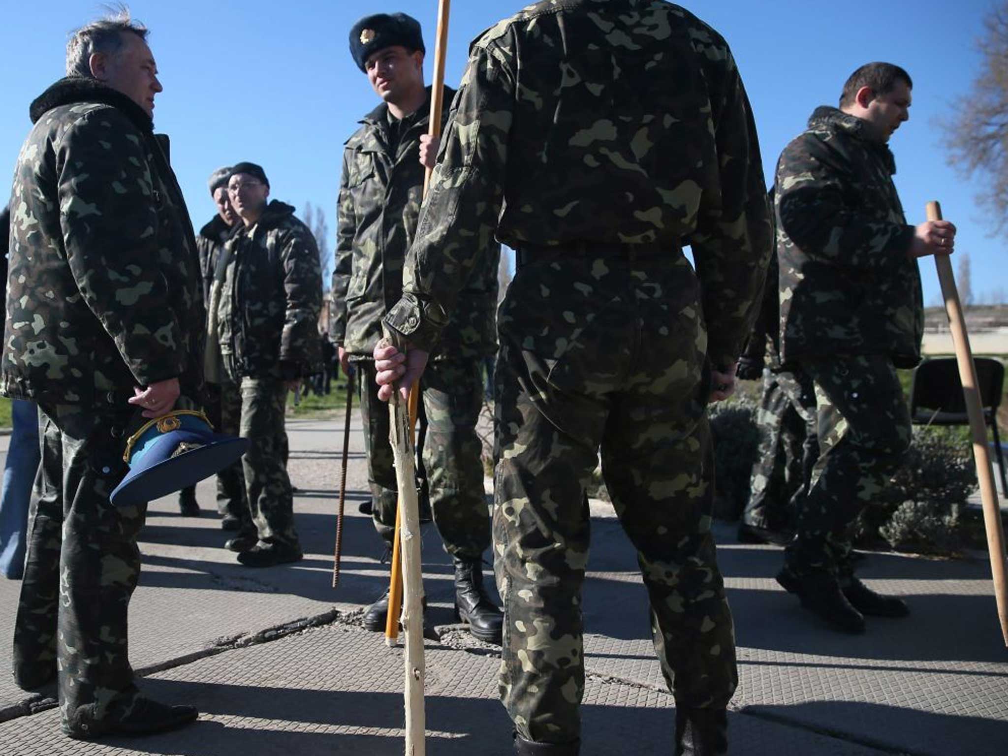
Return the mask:
{"type": "MultiPolygon", "coordinates": [[[[294,527],[294,501],[287,475],[287,432],[284,410],[287,388],[276,378],[241,379],[240,386],[227,383],[221,392],[222,428],[226,433],[248,438],[240,471],[225,471],[225,486],[244,487],[247,506],[240,513],[240,534],[257,534],[265,543],[298,546],[294,527]]],[[[218,491],[221,491],[218,479],[218,491]]],[[[219,493],[220,496],[220,493],[219,493]]]]}

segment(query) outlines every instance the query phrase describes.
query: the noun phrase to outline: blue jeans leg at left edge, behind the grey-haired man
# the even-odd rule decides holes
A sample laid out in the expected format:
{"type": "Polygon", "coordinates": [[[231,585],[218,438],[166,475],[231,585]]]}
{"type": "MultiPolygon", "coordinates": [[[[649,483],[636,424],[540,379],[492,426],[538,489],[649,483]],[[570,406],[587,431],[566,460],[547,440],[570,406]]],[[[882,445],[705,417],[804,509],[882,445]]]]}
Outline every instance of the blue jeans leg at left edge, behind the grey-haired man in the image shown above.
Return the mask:
{"type": "Polygon", "coordinates": [[[40,459],[38,410],[22,399],[11,400],[14,429],[7,450],[0,494],[0,574],[20,580],[28,525],[28,502],[40,459]]]}

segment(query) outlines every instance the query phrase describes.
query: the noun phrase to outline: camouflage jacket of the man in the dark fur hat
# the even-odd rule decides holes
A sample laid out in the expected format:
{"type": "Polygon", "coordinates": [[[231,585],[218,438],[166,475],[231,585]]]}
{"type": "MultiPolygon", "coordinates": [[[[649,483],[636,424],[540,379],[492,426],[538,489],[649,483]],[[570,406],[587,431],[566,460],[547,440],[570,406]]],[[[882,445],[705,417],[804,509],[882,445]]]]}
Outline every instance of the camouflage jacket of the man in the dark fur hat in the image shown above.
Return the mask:
{"type": "MultiPolygon", "coordinates": [[[[445,88],[446,101],[453,94],[445,88]]],[[[381,319],[402,295],[403,260],[423,196],[419,148],[420,136],[427,133],[429,102],[428,94],[427,104],[404,119],[394,152],[384,104],[364,118],[344,148],[330,335],[352,355],[371,356],[382,335],[381,319]]],[[[496,350],[500,245],[485,234],[464,247],[479,263],[462,286],[458,311],[435,359],[482,357],[496,350]]]]}

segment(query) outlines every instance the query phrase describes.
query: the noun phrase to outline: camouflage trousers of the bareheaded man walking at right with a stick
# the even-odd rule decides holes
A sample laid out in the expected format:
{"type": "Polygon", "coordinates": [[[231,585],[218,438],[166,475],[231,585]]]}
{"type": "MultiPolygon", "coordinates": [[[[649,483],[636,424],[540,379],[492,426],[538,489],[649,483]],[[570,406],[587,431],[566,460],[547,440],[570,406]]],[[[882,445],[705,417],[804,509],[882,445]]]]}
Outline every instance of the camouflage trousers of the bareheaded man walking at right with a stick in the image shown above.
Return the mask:
{"type": "Polygon", "coordinates": [[[851,524],[909,449],[910,413],[886,356],[841,355],[800,364],[815,386],[820,458],[785,559],[794,572],[843,578],[851,569],[851,524]]]}

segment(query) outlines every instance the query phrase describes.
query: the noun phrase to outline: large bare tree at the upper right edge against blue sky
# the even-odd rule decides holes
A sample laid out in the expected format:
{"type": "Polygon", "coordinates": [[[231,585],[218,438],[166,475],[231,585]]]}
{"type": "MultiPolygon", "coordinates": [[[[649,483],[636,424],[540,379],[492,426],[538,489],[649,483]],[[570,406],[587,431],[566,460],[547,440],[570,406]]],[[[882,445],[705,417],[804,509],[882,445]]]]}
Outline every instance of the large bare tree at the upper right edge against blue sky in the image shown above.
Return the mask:
{"type": "Polygon", "coordinates": [[[956,115],[941,122],[949,164],[982,187],[978,204],[988,211],[992,233],[1008,224],[1008,0],[984,19],[977,40],[981,70],[973,88],[951,109],[956,115]]]}

